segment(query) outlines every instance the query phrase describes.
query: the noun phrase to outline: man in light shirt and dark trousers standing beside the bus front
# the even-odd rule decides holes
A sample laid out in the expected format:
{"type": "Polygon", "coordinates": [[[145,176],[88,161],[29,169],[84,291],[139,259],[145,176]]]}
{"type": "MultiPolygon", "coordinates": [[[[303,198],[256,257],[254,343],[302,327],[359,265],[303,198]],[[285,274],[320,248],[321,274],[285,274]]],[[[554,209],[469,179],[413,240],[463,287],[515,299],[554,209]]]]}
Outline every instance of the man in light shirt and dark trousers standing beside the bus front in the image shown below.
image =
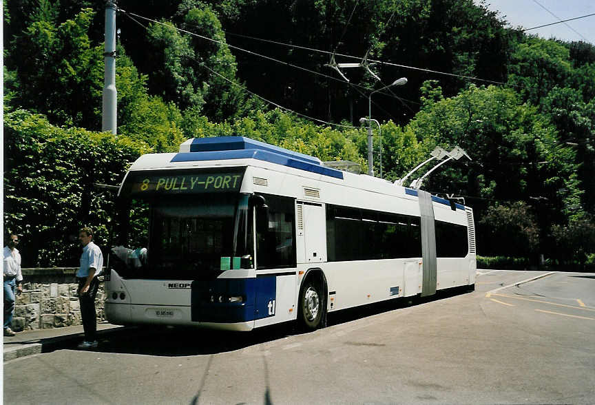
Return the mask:
{"type": "Polygon", "coordinates": [[[99,288],[97,276],[99,276],[103,268],[103,254],[92,239],[92,229],[88,227],[81,228],[79,241],[83,247],[83,254],[81,254],[81,267],[76,272],[76,280],[79,282],[79,302],[81,303],[81,318],[83,319],[85,340],[79,344],[79,349],[97,347],[95,297],[99,288]]]}

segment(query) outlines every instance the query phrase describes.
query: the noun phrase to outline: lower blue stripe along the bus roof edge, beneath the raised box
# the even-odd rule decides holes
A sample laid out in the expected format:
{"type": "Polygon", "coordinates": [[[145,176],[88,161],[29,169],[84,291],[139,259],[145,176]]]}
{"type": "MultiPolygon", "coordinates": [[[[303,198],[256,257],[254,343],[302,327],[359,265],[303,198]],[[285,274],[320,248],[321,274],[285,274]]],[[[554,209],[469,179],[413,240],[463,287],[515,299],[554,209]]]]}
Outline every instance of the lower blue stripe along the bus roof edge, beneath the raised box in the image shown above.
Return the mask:
{"type": "Polygon", "coordinates": [[[322,174],[334,178],[343,179],[343,172],[322,165],[308,163],[304,160],[290,158],[275,152],[269,152],[263,149],[239,149],[222,150],[213,152],[180,152],[171,159],[171,162],[199,162],[202,160],[225,160],[225,159],[258,159],[265,162],[277,163],[294,169],[304,170],[305,172],[322,174]]]}

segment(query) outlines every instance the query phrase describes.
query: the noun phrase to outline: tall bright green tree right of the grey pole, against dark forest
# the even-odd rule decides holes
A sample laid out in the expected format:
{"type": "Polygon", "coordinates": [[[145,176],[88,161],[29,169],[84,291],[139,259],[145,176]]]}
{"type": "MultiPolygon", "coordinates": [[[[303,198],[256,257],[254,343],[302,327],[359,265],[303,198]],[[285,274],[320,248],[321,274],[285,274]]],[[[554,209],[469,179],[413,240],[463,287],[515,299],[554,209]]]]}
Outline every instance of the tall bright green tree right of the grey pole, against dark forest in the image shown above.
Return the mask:
{"type": "Polygon", "coordinates": [[[202,37],[182,34],[171,22],[154,23],[149,42],[158,68],[149,74],[149,88],[180,110],[223,121],[254,105],[236,82],[236,60],[225,42],[216,14],[207,6],[187,10],[181,28],[202,37]],[[208,69],[207,69],[208,67],[208,69]],[[215,73],[213,73],[213,72],[215,73]]]}

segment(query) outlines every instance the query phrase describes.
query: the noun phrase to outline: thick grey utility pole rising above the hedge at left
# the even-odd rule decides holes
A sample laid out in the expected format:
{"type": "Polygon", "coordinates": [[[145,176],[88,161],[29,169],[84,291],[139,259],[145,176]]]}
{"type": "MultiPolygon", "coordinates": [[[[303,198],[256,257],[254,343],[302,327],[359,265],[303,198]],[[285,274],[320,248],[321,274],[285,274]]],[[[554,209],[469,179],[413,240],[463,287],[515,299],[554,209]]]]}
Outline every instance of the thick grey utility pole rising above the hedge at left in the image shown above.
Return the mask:
{"type": "Polygon", "coordinates": [[[117,103],[118,91],[116,90],[116,10],[117,0],[105,1],[105,63],[103,79],[103,110],[101,131],[117,134],[117,103]]]}

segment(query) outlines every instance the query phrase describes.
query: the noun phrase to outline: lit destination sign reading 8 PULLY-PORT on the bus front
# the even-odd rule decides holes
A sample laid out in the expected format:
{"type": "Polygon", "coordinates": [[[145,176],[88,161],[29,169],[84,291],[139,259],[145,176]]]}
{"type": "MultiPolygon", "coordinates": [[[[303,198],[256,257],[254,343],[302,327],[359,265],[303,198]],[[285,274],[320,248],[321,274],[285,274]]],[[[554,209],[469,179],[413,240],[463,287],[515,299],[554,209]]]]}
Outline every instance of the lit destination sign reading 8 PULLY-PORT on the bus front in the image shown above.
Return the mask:
{"type": "Polygon", "coordinates": [[[200,194],[240,191],[243,173],[238,172],[130,172],[125,194],[200,194]]]}

